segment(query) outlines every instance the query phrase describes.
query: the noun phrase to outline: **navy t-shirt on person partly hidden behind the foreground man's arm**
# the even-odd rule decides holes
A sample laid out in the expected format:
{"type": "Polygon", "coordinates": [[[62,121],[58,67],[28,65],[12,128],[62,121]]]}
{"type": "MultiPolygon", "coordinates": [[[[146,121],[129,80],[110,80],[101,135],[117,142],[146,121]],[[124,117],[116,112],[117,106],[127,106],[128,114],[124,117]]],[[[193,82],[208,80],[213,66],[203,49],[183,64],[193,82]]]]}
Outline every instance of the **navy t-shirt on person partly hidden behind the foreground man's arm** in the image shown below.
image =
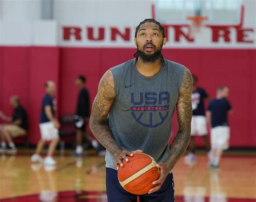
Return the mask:
{"type": "Polygon", "coordinates": [[[205,116],[204,99],[208,97],[208,94],[203,88],[198,87],[196,91],[192,93],[192,113],[193,116],[205,116]]]}

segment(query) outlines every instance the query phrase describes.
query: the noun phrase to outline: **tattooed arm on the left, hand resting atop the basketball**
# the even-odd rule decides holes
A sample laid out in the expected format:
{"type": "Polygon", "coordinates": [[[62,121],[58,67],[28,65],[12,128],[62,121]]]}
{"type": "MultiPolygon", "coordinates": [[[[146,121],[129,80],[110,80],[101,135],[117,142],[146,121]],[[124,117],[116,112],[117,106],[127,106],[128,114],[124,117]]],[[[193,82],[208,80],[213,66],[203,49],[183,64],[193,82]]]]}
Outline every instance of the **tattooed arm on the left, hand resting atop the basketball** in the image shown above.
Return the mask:
{"type": "Polygon", "coordinates": [[[112,72],[109,70],[99,82],[98,93],[92,104],[90,129],[97,140],[117,159],[114,166],[118,169],[119,165],[123,166],[122,159],[127,161],[128,158],[126,156],[133,155],[132,152],[122,150],[118,146],[109,127],[106,125],[106,117],[110,112],[114,97],[114,79],[112,72]]]}

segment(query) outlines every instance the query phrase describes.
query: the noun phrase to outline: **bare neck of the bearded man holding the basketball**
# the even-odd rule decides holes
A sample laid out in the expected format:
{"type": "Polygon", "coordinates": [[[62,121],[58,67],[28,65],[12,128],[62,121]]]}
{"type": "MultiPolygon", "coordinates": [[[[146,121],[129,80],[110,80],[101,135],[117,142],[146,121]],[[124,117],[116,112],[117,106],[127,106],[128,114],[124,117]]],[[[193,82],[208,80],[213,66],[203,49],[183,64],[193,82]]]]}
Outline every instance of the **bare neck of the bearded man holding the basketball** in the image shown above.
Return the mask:
{"type": "Polygon", "coordinates": [[[144,62],[141,58],[138,58],[136,67],[140,74],[150,77],[158,73],[161,68],[161,60],[158,59],[156,62],[144,62]]]}

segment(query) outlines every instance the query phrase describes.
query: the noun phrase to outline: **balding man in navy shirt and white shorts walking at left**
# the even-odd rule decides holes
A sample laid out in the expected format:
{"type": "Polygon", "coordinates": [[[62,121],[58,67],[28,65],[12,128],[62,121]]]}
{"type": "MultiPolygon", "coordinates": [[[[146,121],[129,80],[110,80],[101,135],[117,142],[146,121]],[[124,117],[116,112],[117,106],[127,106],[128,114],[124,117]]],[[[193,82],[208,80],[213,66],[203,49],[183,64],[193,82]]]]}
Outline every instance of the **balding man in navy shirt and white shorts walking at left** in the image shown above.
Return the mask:
{"type": "Polygon", "coordinates": [[[45,83],[46,94],[44,95],[41,109],[41,116],[39,119],[39,128],[41,132],[41,140],[37,143],[35,154],[31,156],[32,162],[42,162],[43,159],[40,153],[44,147],[46,141],[51,141],[47,153],[47,157],[44,159],[44,164],[55,165],[56,161],[52,158],[53,152],[59,142],[58,128],[60,124],[55,118],[56,100],[54,98],[56,87],[55,82],[47,81],[45,83]]]}

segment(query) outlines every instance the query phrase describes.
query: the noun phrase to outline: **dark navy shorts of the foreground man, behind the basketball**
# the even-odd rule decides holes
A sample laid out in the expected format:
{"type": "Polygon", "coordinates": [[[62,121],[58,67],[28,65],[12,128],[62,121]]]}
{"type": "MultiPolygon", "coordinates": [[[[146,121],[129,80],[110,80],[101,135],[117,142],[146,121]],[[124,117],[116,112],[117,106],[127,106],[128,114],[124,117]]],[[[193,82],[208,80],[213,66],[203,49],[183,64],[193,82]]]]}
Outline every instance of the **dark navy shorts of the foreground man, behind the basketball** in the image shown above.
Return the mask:
{"type": "MultiPolygon", "coordinates": [[[[118,182],[117,171],[114,169],[106,168],[106,190],[107,201],[120,202],[130,201],[137,202],[137,196],[131,194],[123,189],[118,182]]],[[[170,173],[160,190],[151,194],[144,194],[139,196],[139,201],[159,201],[159,202],[174,202],[174,183],[173,175],[170,173]]]]}

